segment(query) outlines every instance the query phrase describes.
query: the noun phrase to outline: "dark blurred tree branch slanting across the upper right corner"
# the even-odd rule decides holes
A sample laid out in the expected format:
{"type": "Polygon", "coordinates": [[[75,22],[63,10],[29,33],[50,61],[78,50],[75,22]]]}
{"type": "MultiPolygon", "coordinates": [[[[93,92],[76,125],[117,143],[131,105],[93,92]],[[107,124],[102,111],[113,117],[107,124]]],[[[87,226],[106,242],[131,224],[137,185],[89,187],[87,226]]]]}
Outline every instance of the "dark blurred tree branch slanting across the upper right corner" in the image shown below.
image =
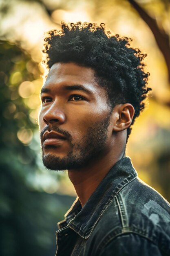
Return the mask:
{"type": "Polygon", "coordinates": [[[150,30],[152,31],[155,40],[159,49],[161,50],[167,67],[168,67],[168,79],[170,82],[170,38],[169,35],[166,34],[166,31],[160,29],[157,25],[157,22],[154,18],[150,17],[149,14],[137,4],[134,0],[128,0],[130,4],[135,8],[135,10],[139,13],[141,18],[146,22],[150,30]]]}

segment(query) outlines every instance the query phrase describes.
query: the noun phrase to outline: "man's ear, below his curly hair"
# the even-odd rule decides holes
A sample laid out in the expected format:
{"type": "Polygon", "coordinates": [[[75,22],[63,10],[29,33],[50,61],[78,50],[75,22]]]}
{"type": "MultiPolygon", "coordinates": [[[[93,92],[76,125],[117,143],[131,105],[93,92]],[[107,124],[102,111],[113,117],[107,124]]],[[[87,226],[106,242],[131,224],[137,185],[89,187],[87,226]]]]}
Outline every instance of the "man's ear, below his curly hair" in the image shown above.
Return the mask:
{"type": "Polygon", "coordinates": [[[113,109],[113,131],[120,132],[132,123],[135,109],[130,103],[116,105],[113,109]]]}

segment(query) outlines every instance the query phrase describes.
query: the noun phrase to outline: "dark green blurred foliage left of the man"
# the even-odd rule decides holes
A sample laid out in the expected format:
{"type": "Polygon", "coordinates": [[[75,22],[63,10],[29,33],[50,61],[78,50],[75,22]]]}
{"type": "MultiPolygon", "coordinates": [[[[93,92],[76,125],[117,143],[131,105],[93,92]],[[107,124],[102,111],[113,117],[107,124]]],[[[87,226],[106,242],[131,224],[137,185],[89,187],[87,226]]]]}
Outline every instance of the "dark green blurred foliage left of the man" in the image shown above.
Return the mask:
{"type": "Polygon", "coordinates": [[[29,146],[29,136],[37,125],[19,95],[20,84],[35,79],[27,69],[28,63],[37,67],[20,47],[0,41],[1,256],[55,255],[56,223],[74,199],[38,192],[28,185],[27,176],[38,169],[36,152],[29,146]],[[22,136],[18,134],[23,130],[22,136]]]}

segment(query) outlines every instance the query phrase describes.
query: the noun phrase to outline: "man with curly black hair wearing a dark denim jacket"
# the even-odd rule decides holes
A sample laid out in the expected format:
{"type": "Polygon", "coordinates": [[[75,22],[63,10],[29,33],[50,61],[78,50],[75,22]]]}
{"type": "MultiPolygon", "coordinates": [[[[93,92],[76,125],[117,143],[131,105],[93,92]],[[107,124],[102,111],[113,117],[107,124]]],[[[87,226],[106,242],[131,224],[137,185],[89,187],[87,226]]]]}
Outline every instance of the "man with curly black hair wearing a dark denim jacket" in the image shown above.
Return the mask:
{"type": "Polygon", "coordinates": [[[68,169],[77,200],[59,223],[57,256],[170,255],[170,205],[138,177],[125,148],[148,73],[130,38],[62,23],[45,39],[42,159],[68,169]]]}

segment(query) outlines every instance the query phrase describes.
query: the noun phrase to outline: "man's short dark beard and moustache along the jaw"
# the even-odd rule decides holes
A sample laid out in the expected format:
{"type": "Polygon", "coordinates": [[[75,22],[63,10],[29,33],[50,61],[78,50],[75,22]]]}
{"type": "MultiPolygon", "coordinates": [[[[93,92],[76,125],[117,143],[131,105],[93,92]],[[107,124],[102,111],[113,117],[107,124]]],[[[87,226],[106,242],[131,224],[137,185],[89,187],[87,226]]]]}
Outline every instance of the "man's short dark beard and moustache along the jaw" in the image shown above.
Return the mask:
{"type": "MultiPolygon", "coordinates": [[[[71,150],[67,153],[65,157],[57,157],[53,154],[48,154],[44,156],[43,146],[42,146],[42,161],[44,166],[49,170],[62,171],[69,169],[78,169],[82,166],[86,166],[92,159],[96,158],[99,153],[104,150],[106,141],[108,138],[108,126],[110,124],[111,114],[103,119],[102,121],[96,122],[93,126],[89,127],[86,134],[82,137],[80,142],[73,143],[72,137],[69,132],[64,131],[57,126],[52,126],[53,131],[60,132],[66,135],[68,142],[71,146],[71,150]]],[[[40,134],[42,135],[46,130],[47,126],[40,134]]],[[[48,148],[54,148],[55,146],[46,146],[48,148]]]]}

